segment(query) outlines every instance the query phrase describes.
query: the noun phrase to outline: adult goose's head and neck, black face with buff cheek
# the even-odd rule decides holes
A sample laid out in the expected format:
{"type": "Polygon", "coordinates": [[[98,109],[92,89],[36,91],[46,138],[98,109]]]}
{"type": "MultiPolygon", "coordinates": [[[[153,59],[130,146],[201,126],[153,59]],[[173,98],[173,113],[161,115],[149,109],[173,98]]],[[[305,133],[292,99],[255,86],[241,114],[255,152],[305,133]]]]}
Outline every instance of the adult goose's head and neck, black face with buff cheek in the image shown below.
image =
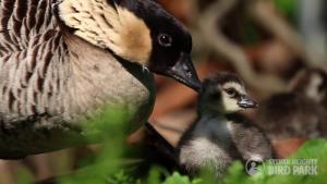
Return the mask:
{"type": "Polygon", "coordinates": [[[189,32],[154,0],[61,0],[55,12],[82,39],[201,89],[189,32]]]}

